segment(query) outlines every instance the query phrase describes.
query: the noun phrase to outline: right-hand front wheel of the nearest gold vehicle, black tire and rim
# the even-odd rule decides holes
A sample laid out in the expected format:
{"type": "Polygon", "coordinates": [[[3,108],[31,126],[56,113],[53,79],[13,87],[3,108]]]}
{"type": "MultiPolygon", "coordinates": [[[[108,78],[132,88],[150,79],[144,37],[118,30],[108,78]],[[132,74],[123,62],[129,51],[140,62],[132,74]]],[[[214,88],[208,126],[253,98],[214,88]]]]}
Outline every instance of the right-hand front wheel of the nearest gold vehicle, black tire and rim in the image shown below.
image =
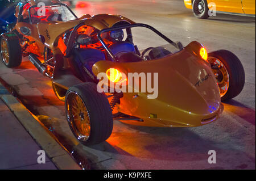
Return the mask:
{"type": "Polygon", "coordinates": [[[216,75],[221,100],[240,94],[245,85],[245,70],[239,58],[228,50],[217,50],[208,54],[208,62],[216,75]]]}

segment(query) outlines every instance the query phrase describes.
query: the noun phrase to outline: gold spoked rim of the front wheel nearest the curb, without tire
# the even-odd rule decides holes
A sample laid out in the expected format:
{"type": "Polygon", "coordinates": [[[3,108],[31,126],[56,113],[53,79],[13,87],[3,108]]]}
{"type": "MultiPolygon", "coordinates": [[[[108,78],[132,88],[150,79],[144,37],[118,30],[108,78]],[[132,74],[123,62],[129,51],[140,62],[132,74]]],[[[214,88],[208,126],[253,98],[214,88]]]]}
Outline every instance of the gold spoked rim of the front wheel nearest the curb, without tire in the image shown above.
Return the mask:
{"type": "Polygon", "coordinates": [[[77,92],[69,92],[66,98],[66,112],[69,126],[76,138],[87,141],[90,137],[89,112],[77,92]]]}

